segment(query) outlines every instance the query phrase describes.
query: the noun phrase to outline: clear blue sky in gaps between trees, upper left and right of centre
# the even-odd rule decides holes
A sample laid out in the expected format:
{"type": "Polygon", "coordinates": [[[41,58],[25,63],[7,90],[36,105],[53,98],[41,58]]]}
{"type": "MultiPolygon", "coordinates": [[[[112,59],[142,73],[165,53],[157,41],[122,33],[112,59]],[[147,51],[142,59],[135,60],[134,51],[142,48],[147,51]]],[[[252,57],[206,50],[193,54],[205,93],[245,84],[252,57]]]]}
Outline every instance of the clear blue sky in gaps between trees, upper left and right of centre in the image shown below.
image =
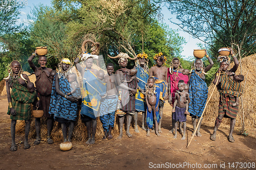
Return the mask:
{"type": "MultiPolygon", "coordinates": [[[[26,1],[26,0],[21,0],[21,1],[26,1]]],[[[34,8],[34,6],[38,4],[44,4],[47,6],[51,6],[51,0],[44,0],[44,1],[32,1],[32,0],[27,0],[27,6],[25,6],[24,9],[20,10],[21,11],[21,16],[20,16],[20,22],[27,22],[27,14],[30,14],[30,11],[34,8]]],[[[185,41],[187,42],[186,44],[183,45],[183,52],[181,53],[182,56],[184,56],[184,59],[188,59],[190,56],[193,56],[194,49],[198,49],[197,43],[201,42],[198,39],[193,38],[191,35],[188,33],[182,31],[179,29],[178,26],[174,25],[169,21],[170,18],[177,22],[176,16],[170,14],[168,9],[166,7],[162,7],[162,13],[163,13],[163,22],[165,22],[167,25],[169,25],[170,28],[174,30],[178,30],[178,33],[185,38],[185,41]]]]}

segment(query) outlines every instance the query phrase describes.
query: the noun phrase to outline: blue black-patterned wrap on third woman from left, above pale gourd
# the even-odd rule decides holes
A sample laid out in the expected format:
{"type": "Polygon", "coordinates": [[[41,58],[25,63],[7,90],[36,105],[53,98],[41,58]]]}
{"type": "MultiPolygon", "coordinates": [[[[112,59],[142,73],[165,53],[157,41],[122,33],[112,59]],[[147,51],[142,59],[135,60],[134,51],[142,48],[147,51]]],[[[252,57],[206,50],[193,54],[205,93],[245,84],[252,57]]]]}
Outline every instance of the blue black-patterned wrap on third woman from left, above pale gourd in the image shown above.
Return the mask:
{"type": "MultiPolygon", "coordinates": [[[[58,76],[56,74],[55,76],[58,76]]],[[[59,79],[59,90],[67,94],[71,92],[71,87],[68,79],[59,79]]],[[[77,117],[77,103],[70,102],[68,99],[62,97],[56,92],[55,77],[52,84],[51,102],[49,107],[49,114],[54,115],[54,119],[63,118],[67,120],[75,120],[77,117]]]]}

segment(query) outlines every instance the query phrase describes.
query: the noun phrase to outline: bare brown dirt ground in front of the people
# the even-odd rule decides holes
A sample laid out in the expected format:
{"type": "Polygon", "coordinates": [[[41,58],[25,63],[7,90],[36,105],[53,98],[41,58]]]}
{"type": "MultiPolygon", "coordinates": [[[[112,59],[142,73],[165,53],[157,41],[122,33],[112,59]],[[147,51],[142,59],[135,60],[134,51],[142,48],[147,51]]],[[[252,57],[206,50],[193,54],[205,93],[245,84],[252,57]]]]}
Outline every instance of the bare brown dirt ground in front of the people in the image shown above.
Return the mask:
{"type": "MultiPolygon", "coordinates": [[[[136,134],[132,128],[132,138],[117,135],[111,140],[97,140],[94,145],[73,141],[73,148],[63,152],[59,142],[48,144],[42,140],[31,148],[24,150],[24,144],[18,144],[18,150],[11,152],[10,117],[7,115],[8,102],[0,96],[0,169],[256,169],[255,163],[255,131],[247,130],[247,136],[239,135],[239,128],[234,131],[236,142],[227,140],[229,127],[221,125],[217,140],[211,141],[210,134],[214,124],[202,123],[202,137],[191,139],[191,119],[187,118],[186,140],[173,139],[169,134],[171,123],[171,107],[165,104],[162,131],[160,137],[151,133],[150,137],[141,128],[136,134]]],[[[141,114],[139,126],[141,127],[141,114]]],[[[22,141],[23,135],[16,135],[16,142],[22,141]]]]}

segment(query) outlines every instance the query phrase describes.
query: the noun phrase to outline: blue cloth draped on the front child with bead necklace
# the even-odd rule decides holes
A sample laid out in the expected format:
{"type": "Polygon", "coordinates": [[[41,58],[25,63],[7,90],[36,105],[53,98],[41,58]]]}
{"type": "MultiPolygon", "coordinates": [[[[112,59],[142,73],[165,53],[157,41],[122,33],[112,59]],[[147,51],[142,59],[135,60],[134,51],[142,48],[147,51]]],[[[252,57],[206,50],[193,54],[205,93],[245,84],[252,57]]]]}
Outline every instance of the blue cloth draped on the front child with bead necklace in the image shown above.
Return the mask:
{"type": "MultiPolygon", "coordinates": [[[[157,98],[156,107],[157,107],[158,102],[159,102],[159,96],[160,96],[160,88],[159,88],[159,86],[156,86],[156,92],[157,92],[156,93],[156,98],[157,98]]],[[[156,112],[156,117],[157,117],[157,123],[159,123],[159,119],[161,118],[160,115],[159,115],[159,108],[158,108],[158,111],[156,112]]],[[[146,108],[146,124],[147,124],[148,128],[150,128],[150,129],[152,129],[153,125],[155,124],[153,111],[151,111],[151,113],[150,113],[148,111],[148,108],[146,108]]]]}

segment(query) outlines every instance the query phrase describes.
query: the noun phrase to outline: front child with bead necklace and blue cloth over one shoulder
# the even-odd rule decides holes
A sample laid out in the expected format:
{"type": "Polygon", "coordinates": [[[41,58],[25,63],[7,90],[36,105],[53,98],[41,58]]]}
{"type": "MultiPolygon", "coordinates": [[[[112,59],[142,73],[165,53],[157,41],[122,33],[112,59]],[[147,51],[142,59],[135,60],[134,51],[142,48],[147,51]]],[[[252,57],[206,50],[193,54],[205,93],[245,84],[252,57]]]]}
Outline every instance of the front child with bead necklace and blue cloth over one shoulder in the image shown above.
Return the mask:
{"type": "Polygon", "coordinates": [[[159,96],[160,96],[160,88],[155,85],[155,79],[150,77],[147,79],[146,84],[146,105],[147,105],[147,113],[146,113],[146,123],[147,123],[147,134],[146,136],[150,136],[150,128],[153,128],[153,124],[155,123],[155,133],[157,136],[160,136],[158,133],[158,122],[160,119],[158,106],[159,106],[159,96]],[[154,122],[153,122],[154,117],[154,122]]]}

